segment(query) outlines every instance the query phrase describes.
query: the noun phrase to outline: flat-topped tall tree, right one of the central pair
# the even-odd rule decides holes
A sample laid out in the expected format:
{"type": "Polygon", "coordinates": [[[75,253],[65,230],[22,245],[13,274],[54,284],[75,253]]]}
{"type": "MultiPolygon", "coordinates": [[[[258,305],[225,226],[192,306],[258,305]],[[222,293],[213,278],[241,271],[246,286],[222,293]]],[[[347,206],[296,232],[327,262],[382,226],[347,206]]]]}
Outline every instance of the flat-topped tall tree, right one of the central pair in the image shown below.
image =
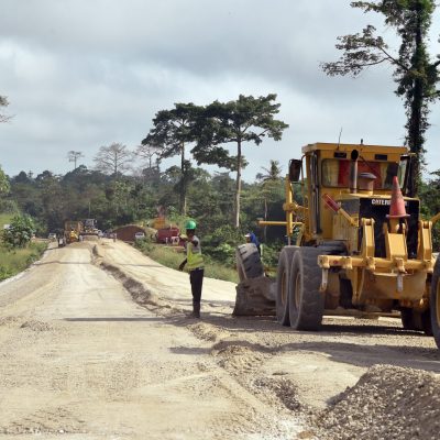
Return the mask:
{"type": "Polygon", "coordinates": [[[205,110],[204,118],[196,125],[197,145],[193,153],[197,162],[216,164],[237,173],[233,209],[233,226],[240,227],[240,195],[242,168],[246,162],[242,152],[244,143],[260,145],[265,136],[279,141],[288,127],[274,119],[279,112],[279,103],[274,103],[276,95],[254,98],[240,95],[235,101],[215,101],[205,110]],[[237,155],[230,155],[223,146],[237,145],[237,155]]]}

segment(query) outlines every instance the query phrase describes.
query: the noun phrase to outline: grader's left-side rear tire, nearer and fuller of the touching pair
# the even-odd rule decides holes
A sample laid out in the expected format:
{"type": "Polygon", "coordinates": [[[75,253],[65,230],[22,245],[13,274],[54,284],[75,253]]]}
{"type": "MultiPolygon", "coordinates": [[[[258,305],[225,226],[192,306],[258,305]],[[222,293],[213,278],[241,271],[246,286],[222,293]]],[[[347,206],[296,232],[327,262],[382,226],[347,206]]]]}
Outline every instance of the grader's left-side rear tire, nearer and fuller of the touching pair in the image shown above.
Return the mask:
{"type": "Polygon", "coordinates": [[[318,255],[327,253],[319,248],[300,248],[292,262],[289,278],[290,327],[295,330],[319,330],[324,310],[324,294],[319,292],[322,270],[318,255]]]}

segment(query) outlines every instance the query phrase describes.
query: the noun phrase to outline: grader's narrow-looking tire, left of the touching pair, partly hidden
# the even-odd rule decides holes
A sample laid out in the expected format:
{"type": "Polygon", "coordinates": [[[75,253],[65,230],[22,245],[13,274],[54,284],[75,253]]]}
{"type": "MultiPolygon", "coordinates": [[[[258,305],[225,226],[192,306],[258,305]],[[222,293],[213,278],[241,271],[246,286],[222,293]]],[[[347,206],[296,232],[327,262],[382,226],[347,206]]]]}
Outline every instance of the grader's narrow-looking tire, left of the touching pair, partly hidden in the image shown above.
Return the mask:
{"type": "Polygon", "coordinates": [[[279,253],[278,268],[276,272],[276,319],[282,326],[289,326],[289,276],[292,261],[298,246],[285,246],[279,253]]]}

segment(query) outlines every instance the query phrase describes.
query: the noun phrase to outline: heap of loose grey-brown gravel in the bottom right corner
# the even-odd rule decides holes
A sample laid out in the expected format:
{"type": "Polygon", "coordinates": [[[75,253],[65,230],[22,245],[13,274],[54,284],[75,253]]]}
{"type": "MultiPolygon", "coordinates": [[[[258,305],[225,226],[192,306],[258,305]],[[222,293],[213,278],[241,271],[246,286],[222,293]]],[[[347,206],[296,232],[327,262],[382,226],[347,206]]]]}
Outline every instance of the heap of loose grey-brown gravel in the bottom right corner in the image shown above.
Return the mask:
{"type": "Polygon", "coordinates": [[[371,367],[316,418],[320,439],[437,440],[440,378],[420,370],[371,367]]]}

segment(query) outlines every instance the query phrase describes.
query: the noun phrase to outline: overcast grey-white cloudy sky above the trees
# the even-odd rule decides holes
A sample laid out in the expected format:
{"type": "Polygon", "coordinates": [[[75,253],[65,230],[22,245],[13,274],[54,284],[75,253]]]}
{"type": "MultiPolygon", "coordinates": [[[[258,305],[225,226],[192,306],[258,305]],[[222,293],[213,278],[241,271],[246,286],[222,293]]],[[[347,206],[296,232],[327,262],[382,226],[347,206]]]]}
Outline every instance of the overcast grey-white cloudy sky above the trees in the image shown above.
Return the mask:
{"type": "MultiPolygon", "coordinates": [[[[405,113],[391,67],[329,78],[338,35],[381,25],[349,0],[0,0],[0,164],[64,174],[70,150],[94,166],[101,145],[134,150],[158,110],[240,94],[277,94],[280,142],[246,145],[252,180],[268,161],[299,157],[317,141],[399,145],[405,113]]],[[[437,11],[437,22],[440,11],[437,11]]],[[[439,54],[440,26],[431,53],[439,54]]],[[[397,43],[393,30],[386,40],[397,43]]],[[[427,134],[428,169],[440,168],[439,105],[427,134]]]]}

